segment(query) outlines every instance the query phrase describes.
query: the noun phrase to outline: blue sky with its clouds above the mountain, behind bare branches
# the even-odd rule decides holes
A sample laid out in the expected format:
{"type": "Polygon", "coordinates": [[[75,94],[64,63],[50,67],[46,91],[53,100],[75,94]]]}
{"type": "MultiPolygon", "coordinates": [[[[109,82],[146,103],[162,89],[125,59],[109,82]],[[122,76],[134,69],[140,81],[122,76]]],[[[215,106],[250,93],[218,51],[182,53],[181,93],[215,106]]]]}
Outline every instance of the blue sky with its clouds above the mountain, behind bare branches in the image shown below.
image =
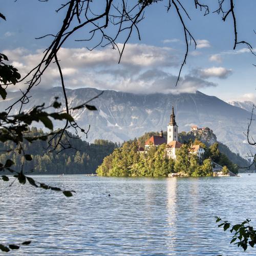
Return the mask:
{"type": "MultiPolygon", "coordinates": [[[[94,1],[94,12],[103,8],[104,1],[94,1]]],[[[118,2],[115,0],[114,2],[118,2]]],[[[129,2],[129,1],[128,1],[129,2]]],[[[166,2],[158,2],[147,8],[139,23],[141,40],[136,32],[126,45],[120,64],[118,52],[110,47],[98,47],[93,51],[97,36],[92,42],[75,41],[90,37],[90,28],[82,29],[69,38],[58,53],[67,88],[94,87],[101,90],[117,90],[131,93],[182,93],[199,90],[222,100],[251,100],[256,103],[256,56],[245,45],[233,50],[234,33],[231,16],[224,23],[222,16],[212,13],[218,1],[202,1],[210,4],[210,13],[194,8],[194,1],[183,0],[184,21],[197,41],[197,48],[189,46],[186,65],[175,87],[180,65],[185,54],[182,25],[174,8],[166,10],[166,2]]],[[[66,1],[48,2],[25,0],[1,0],[1,10],[7,20],[0,21],[0,52],[9,63],[24,75],[32,69],[50,44],[51,37],[35,39],[45,34],[55,34],[62,24],[65,11],[55,10],[66,1]]],[[[238,40],[255,46],[256,5],[253,0],[234,1],[237,16],[238,40]]],[[[115,28],[108,28],[110,34],[115,28]]],[[[122,47],[125,34],[117,42],[122,47]]],[[[56,65],[44,75],[40,88],[60,86],[56,65]]],[[[18,84],[13,90],[24,89],[18,84]]]]}

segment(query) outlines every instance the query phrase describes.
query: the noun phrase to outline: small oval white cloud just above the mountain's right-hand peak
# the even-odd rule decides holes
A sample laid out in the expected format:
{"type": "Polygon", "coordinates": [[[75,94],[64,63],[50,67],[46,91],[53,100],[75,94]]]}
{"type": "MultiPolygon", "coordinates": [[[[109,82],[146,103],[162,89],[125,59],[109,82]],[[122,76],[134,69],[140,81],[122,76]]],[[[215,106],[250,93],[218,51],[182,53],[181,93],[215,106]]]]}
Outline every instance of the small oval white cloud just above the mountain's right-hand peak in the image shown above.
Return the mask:
{"type": "Polygon", "coordinates": [[[208,69],[197,69],[193,73],[201,78],[218,77],[225,79],[232,73],[232,70],[223,67],[212,67],[208,69]]]}

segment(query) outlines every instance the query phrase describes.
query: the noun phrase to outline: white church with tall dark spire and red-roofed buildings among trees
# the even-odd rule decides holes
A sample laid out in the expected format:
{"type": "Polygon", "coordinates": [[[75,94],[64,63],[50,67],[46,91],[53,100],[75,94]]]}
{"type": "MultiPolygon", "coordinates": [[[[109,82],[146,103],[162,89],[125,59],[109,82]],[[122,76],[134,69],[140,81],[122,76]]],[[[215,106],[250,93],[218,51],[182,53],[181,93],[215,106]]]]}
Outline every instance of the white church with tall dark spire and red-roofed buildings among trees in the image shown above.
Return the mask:
{"type": "MultiPolygon", "coordinates": [[[[166,144],[166,153],[169,158],[176,160],[177,152],[179,151],[182,143],[179,142],[178,138],[178,125],[175,120],[174,107],[172,108],[172,114],[170,115],[170,121],[167,126],[167,140],[163,136],[163,131],[160,132],[159,136],[153,135],[150,139],[145,142],[145,147],[139,148],[139,152],[146,152],[151,146],[159,146],[166,144]]],[[[204,153],[204,149],[200,145],[192,145],[190,154],[197,154],[199,157],[204,153]]]]}

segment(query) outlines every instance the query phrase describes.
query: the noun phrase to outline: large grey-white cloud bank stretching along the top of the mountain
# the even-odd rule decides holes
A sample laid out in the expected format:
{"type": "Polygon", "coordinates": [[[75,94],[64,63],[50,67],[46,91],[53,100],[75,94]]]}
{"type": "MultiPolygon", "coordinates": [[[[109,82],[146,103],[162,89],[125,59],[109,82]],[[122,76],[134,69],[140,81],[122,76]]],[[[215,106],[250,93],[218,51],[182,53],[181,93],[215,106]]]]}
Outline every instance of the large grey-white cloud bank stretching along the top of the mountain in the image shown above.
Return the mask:
{"type": "MultiPolygon", "coordinates": [[[[42,50],[30,52],[23,48],[3,52],[23,76],[38,64],[43,54],[42,50]]],[[[180,56],[169,47],[127,44],[120,64],[118,57],[118,52],[111,48],[94,51],[61,48],[58,52],[65,84],[71,89],[93,87],[134,93],[177,94],[216,86],[191,74],[181,77],[175,87],[177,76],[170,73],[170,68],[179,69],[180,56]]],[[[60,78],[56,64],[52,63],[38,88],[54,86],[60,86],[60,78]]],[[[25,88],[26,84],[14,87],[15,90],[25,88]]]]}

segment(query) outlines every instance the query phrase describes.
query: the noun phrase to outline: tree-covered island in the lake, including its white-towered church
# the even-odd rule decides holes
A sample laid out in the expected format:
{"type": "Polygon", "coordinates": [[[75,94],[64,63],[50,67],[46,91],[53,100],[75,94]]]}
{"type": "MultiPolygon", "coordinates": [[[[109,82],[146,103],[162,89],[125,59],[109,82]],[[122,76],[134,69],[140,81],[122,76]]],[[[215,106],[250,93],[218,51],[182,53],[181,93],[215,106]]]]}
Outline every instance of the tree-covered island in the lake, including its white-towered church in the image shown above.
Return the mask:
{"type": "MultiPolygon", "coordinates": [[[[145,133],[138,139],[124,142],[103,159],[96,173],[131,177],[236,176],[238,164],[220,152],[219,144],[209,127],[193,125],[189,133],[178,134],[173,107],[165,133],[145,133]]],[[[230,156],[236,155],[222,144],[223,148],[230,156]]]]}

